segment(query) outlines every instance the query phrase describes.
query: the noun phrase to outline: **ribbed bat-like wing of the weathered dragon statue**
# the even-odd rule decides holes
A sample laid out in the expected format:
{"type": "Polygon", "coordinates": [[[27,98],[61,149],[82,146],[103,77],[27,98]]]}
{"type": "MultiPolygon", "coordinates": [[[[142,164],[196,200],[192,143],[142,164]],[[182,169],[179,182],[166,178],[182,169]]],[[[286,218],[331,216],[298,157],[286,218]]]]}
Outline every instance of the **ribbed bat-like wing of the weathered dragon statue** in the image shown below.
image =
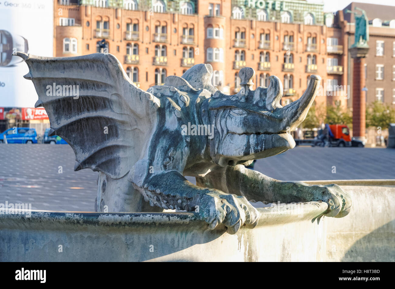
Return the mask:
{"type": "Polygon", "coordinates": [[[29,67],[24,78],[36,88],[35,106],[48,113],[50,134],[74,150],[74,170],[90,168],[113,179],[126,175],[149,145],[159,99],[137,88],[111,54],[17,55],[29,67]]]}

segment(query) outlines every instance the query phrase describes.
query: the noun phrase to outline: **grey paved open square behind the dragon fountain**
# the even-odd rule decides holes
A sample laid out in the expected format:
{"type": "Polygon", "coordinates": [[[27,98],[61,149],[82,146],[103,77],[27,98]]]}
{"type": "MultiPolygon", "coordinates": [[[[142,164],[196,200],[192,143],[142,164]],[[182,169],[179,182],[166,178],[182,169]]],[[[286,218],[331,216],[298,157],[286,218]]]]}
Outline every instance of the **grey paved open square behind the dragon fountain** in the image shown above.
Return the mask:
{"type": "MultiPolygon", "coordinates": [[[[94,211],[98,173],[89,169],[74,172],[74,160],[69,145],[1,144],[0,203],[94,211]]],[[[295,147],[258,160],[255,169],[284,181],[395,179],[395,149],[295,147]]]]}

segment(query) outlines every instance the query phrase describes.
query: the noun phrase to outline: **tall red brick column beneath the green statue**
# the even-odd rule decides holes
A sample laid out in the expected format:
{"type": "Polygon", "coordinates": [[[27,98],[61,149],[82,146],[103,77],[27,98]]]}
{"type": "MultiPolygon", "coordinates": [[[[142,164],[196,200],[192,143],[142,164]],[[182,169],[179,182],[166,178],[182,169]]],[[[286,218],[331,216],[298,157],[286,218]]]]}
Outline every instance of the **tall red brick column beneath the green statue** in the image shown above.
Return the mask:
{"type": "Polygon", "coordinates": [[[365,141],[366,123],[366,101],[365,91],[365,58],[369,48],[350,48],[351,57],[354,59],[354,69],[352,72],[352,136],[361,141],[365,141]]]}

